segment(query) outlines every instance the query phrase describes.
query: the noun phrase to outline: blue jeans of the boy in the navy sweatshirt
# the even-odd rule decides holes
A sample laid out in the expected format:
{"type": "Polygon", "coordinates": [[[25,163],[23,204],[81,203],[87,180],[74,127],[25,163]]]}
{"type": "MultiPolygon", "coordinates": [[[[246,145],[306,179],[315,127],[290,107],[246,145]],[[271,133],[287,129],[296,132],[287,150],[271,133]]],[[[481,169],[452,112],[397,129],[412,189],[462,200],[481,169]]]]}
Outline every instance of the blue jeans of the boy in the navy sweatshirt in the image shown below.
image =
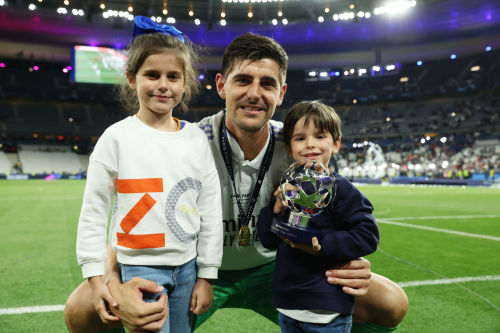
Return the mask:
{"type": "Polygon", "coordinates": [[[278,314],[282,333],[349,333],[352,325],[352,315],[338,315],[328,324],[304,323],[278,314]]]}

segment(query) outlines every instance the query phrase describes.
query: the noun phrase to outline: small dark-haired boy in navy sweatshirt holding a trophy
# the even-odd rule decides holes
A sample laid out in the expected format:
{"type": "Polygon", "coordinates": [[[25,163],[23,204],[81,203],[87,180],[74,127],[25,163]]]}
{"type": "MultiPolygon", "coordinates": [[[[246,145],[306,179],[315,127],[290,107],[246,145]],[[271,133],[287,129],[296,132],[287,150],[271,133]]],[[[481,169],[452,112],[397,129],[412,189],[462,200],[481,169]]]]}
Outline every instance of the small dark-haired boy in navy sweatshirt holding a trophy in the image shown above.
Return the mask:
{"type": "MultiPolygon", "coordinates": [[[[341,120],[319,102],[294,105],[283,126],[289,155],[295,161],[315,160],[328,166],[339,151],[341,120]]],[[[257,224],[262,245],[277,249],[273,290],[282,332],[349,332],[354,297],[327,283],[324,272],[335,264],[370,254],[377,249],[378,228],[373,206],[346,178],[334,174],[336,195],[310,225],[321,230],[311,245],[296,244],[271,233],[273,218],[288,220],[281,189],[261,210],[257,224]]]]}

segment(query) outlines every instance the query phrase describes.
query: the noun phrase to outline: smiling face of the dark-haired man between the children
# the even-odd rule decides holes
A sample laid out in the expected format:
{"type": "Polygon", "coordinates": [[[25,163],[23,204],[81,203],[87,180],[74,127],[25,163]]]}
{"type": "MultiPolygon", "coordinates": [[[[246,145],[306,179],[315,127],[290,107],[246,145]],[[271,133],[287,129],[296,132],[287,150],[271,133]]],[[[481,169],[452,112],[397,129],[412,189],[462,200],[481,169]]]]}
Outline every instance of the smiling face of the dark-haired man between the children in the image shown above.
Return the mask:
{"type": "Polygon", "coordinates": [[[279,64],[268,58],[236,61],[227,77],[217,74],[215,80],[219,96],[226,100],[226,124],[233,134],[262,130],[286,92],[279,64]]]}

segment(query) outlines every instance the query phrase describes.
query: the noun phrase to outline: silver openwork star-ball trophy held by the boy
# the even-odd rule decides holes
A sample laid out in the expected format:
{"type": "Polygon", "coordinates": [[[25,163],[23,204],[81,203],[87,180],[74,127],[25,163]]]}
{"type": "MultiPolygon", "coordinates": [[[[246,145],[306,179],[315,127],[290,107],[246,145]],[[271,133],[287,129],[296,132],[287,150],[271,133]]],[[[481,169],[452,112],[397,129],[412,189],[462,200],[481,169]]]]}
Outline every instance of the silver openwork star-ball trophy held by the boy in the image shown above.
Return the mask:
{"type": "Polygon", "coordinates": [[[284,172],[280,187],[290,217],[275,217],[271,231],[297,243],[311,244],[320,231],[310,226],[310,219],[321,214],[335,197],[335,176],[323,163],[305,160],[293,163],[284,172]]]}

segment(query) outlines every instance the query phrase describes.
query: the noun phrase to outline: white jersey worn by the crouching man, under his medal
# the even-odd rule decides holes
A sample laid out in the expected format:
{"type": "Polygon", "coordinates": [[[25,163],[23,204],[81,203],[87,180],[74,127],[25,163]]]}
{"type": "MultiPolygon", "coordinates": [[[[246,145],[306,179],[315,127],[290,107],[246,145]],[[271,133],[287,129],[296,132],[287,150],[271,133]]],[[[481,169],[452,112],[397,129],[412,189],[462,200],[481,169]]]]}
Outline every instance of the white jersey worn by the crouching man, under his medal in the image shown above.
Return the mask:
{"type": "MultiPolygon", "coordinates": [[[[198,125],[208,137],[215,159],[215,166],[219,173],[222,191],[222,216],[224,222],[224,254],[222,257],[222,270],[241,270],[257,267],[273,261],[276,251],[270,251],[262,246],[257,237],[257,217],[260,210],[269,204],[273,188],[279,185],[283,171],[292,163],[288,156],[285,142],[283,140],[283,123],[271,120],[270,124],[275,135],[275,147],[271,166],[264,176],[252,218],[248,225],[251,232],[250,246],[242,247],[238,241],[238,205],[233,189],[233,184],[226,169],[224,159],[220,150],[220,133],[223,111],[202,119],[198,125]]],[[[231,146],[234,181],[240,195],[243,210],[246,214],[254,185],[257,181],[261,162],[269,145],[270,138],[262,151],[252,161],[244,159],[243,152],[236,140],[228,133],[229,145],[231,146]]]]}

